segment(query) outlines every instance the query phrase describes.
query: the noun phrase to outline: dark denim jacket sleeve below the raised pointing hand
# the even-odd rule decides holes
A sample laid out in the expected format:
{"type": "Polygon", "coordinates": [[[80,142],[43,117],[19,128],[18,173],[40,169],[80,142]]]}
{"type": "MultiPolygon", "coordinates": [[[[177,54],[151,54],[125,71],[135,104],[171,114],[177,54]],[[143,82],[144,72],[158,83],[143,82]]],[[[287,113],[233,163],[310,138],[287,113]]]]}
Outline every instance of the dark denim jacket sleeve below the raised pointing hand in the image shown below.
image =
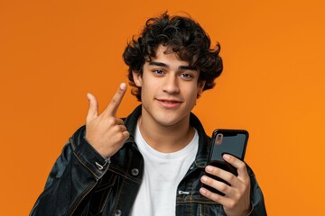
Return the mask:
{"type": "Polygon", "coordinates": [[[30,216],[72,215],[79,207],[87,211],[88,205],[79,206],[79,203],[90,199],[92,189],[107,171],[109,158],[99,155],[88,144],[84,133],[85,126],[62,149],[30,216]]]}

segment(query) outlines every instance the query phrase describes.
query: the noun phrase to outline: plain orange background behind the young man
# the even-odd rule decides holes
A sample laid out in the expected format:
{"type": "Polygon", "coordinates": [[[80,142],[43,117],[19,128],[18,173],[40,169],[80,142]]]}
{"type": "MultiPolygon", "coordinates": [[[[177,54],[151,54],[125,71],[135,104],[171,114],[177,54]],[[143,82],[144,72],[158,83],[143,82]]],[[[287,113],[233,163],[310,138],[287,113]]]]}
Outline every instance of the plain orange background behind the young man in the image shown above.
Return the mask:
{"type": "MultiPolygon", "coordinates": [[[[221,43],[224,73],[195,112],[215,128],[249,130],[246,162],[269,215],[324,215],[323,1],[0,1],[0,211],[27,215],[87,92],[103,110],[127,40],[147,18],[189,13],[221,43]]],[[[138,104],[125,95],[118,112],[138,104]]]]}

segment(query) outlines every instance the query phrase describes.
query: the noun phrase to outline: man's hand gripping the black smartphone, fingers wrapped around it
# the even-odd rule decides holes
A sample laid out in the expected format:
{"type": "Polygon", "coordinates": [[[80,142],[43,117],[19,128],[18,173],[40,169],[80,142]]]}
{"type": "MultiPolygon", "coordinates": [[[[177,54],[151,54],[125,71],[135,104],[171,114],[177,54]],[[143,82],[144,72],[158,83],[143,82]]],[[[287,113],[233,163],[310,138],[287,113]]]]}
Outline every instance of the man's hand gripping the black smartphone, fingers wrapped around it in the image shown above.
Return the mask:
{"type": "Polygon", "coordinates": [[[218,168],[216,166],[206,166],[205,171],[209,175],[214,175],[228,182],[228,184],[218,181],[208,175],[201,177],[201,182],[209,187],[215,188],[221,193],[213,193],[201,187],[200,193],[214,202],[223,205],[228,216],[247,215],[250,211],[250,178],[247,173],[246,164],[237,157],[225,154],[223,158],[232,166],[237,168],[237,176],[218,168]]]}

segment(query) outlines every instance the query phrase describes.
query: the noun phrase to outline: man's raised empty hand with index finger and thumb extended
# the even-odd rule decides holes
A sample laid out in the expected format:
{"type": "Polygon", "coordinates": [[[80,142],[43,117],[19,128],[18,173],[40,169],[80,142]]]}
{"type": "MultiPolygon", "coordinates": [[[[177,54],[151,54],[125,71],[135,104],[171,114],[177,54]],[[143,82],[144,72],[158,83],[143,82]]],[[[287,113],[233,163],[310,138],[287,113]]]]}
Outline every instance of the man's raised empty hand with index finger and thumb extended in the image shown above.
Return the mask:
{"type": "Polygon", "coordinates": [[[87,94],[89,100],[86,118],[86,139],[103,157],[111,157],[121,148],[130,136],[124,121],[116,118],[116,112],[125,95],[126,85],[122,83],[106,110],[98,115],[98,101],[93,94],[87,94]]]}

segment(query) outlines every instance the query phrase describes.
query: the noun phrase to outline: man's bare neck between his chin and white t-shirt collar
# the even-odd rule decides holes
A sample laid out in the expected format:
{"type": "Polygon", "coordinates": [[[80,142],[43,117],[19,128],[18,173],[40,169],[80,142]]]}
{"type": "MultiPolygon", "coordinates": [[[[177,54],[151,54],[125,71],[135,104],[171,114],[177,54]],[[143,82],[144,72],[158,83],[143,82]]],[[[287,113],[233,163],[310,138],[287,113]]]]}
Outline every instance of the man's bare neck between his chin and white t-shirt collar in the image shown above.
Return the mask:
{"type": "Polygon", "coordinates": [[[152,148],[163,153],[181,150],[194,137],[194,129],[190,127],[190,115],[177,124],[168,126],[141,116],[138,124],[144,140],[152,148]]]}

